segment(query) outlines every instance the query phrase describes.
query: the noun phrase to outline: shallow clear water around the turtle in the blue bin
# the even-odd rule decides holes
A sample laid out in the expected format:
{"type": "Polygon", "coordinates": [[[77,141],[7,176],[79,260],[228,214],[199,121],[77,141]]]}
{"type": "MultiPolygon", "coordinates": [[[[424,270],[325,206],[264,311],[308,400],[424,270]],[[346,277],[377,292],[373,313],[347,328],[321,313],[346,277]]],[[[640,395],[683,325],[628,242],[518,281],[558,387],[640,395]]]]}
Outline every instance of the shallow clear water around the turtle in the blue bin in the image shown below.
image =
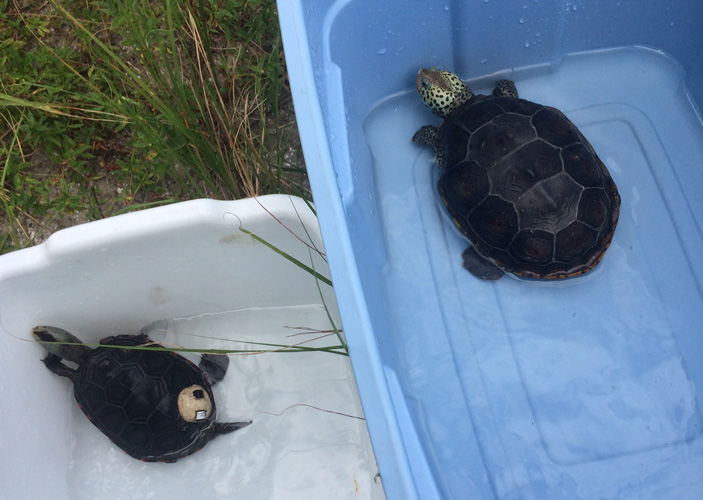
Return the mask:
{"type": "MultiPolygon", "coordinates": [[[[623,477],[599,474],[594,462],[632,467],[623,474],[637,484],[638,474],[675,476],[677,446],[697,449],[691,460],[703,466],[703,269],[693,258],[703,249],[693,217],[703,201],[686,198],[672,164],[689,145],[663,142],[693,115],[683,76],[637,48],[510,75],[521,97],[560,108],[581,129],[622,197],[603,261],[560,282],[482,282],[462,269],[468,241],[438,200],[431,151],[411,143],[440,120],[414,91],[366,118],[374,185],[358,189],[373,189],[385,238],[383,293],[396,328],[384,335],[450,491],[466,491],[476,446],[498,496],[523,483],[526,497],[554,492],[570,477],[579,496],[608,497],[623,477]]],[[[486,94],[497,80],[470,84],[486,94]]],[[[703,141],[698,127],[683,135],[703,141]]]]}

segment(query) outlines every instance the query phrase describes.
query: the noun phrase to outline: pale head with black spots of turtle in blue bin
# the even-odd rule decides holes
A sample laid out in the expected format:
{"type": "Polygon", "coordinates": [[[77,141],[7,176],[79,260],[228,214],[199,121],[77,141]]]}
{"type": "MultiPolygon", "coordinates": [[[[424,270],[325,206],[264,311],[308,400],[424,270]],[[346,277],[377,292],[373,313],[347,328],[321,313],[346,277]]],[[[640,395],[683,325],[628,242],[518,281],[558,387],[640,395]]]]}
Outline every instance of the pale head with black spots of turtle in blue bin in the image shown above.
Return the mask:
{"type": "Polygon", "coordinates": [[[415,84],[425,105],[442,119],[474,96],[458,76],[442,69],[421,69],[415,84]]]}

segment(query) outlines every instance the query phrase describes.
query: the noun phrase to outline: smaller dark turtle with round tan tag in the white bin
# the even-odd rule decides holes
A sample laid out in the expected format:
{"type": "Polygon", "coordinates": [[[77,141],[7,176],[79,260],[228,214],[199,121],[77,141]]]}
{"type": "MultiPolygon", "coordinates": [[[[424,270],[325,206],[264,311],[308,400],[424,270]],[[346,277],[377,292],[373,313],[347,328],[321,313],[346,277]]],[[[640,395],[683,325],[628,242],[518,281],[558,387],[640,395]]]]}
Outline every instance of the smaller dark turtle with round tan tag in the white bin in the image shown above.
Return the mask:
{"type": "Polygon", "coordinates": [[[203,354],[196,366],[154,349],[162,346],[143,333],[106,337],[94,349],[61,328],[37,326],[32,333],[48,351],[46,367],[73,382],[86,417],[143,462],[175,462],[251,423],[215,421],[211,386],[224,378],[227,356],[203,354]]]}

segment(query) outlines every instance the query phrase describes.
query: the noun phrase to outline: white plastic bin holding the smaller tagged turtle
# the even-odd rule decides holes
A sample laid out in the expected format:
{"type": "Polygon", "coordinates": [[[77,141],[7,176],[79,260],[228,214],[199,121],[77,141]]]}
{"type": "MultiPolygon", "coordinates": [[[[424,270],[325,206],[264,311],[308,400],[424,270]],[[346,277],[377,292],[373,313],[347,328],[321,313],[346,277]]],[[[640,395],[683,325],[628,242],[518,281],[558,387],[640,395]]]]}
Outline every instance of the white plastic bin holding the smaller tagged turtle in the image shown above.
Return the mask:
{"type": "Polygon", "coordinates": [[[82,414],[68,380],[40,362],[45,352],[31,335],[38,324],[96,343],[168,319],[152,340],[258,349],[231,341],[297,344],[323,335],[304,331],[331,328],[324,297],[341,326],[331,287],[240,224],[328,274],[308,247],[322,250],[314,214],[288,196],[121,215],[0,257],[0,498],[383,497],[345,356],[232,356],[214,387],[218,420],[253,424],[173,464],[142,463],[114,446],[82,414]]]}

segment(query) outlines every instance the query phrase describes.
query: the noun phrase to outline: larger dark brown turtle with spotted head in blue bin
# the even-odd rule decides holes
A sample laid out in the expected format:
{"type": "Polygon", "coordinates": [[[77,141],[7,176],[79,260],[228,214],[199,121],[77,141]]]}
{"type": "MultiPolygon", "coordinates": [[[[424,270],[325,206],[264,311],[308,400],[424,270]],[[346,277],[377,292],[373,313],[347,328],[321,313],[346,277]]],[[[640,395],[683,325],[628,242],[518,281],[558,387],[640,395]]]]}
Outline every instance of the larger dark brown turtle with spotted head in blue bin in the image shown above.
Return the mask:
{"type": "Polygon", "coordinates": [[[444,121],[413,136],[433,148],[438,190],[470,241],[463,266],[484,280],[563,279],[592,270],[613,239],[620,195],[579,129],[500,80],[476,95],[455,74],[420,69],[417,90],[444,121]]]}

